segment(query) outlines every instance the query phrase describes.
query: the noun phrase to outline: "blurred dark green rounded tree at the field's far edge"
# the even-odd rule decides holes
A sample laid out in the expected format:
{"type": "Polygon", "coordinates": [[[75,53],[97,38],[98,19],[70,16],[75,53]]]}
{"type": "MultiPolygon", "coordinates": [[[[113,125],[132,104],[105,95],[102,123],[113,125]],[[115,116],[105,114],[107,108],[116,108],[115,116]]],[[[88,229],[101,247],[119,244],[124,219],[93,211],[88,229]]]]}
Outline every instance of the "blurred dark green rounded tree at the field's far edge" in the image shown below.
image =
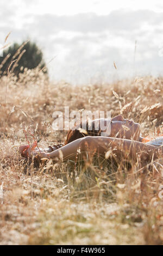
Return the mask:
{"type": "Polygon", "coordinates": [[[35,42],[25,41],[21,45],[15,43],[3,52],[3,57],[0,57],[0,74],[7,74],[9,68],[18,76],[24,68],[34,69],[38,65],[43,72],[47,73],[43,53],[35,42]]]}

